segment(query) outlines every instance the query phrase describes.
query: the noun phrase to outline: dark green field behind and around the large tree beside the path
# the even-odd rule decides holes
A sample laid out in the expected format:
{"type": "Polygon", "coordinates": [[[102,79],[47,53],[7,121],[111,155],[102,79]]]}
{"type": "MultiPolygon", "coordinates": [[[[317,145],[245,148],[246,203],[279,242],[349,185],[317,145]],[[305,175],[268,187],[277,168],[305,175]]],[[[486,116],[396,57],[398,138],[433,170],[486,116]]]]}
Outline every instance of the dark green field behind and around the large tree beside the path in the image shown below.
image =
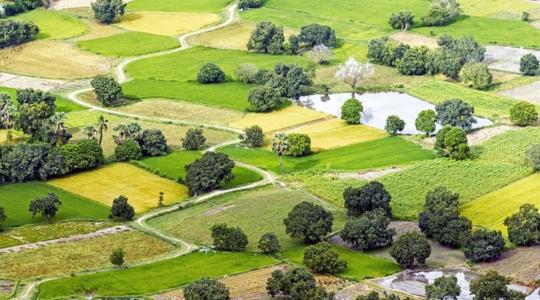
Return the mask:
{"type": "MultiPolygon", "coordinates": [[[[136,163],[145,169],[148,169],[156,174],[167,177],[172,180],[186,177],[184,166],[192,163],[200,158],[202,154],[198,151],[174,151],[165,156],[149,157],[136,163]]],[[[242,167],[233,169],[234,179],[223,185],[223,188],[231,188],[235,186],[252,183],[262,179],[262,176],[251,170],[242,167]]]]}

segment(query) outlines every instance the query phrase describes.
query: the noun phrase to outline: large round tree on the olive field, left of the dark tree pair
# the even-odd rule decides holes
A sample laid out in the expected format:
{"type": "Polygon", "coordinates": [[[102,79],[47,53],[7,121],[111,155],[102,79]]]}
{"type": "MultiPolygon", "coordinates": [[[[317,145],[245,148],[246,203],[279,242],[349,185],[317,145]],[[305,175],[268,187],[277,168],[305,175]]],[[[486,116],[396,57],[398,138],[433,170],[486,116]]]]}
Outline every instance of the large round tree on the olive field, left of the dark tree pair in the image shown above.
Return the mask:
{"type": "Polygon", "coordinates": [[[320,205],[301,202],[293,207],[283,220],[285,232],[294,239],[301,239],[306,244],[321,241],[332,231],[332,213],[320,205]]]}

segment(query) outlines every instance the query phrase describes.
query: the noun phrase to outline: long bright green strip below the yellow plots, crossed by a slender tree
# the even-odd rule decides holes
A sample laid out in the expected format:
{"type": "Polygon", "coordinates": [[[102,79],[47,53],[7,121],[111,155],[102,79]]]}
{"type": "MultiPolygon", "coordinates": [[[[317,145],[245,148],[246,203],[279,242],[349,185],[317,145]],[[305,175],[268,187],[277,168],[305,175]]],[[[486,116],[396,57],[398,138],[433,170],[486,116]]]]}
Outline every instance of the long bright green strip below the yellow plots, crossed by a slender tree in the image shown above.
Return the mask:
{"type": "MultiPolygon", "coordinates": [[[[278,157],[268,150],[227,146],[220,150],[248,164],[266,170],[280,172],[278,157]]],[[[287,172],[302,170],[365,170],[384,166],[410,164],[417,160],[431,159],[432,151],[408,142],[400,137],[389,137],[355,144],[339,149],[315,153],[306,157],[284,157],[287,172]]]]}

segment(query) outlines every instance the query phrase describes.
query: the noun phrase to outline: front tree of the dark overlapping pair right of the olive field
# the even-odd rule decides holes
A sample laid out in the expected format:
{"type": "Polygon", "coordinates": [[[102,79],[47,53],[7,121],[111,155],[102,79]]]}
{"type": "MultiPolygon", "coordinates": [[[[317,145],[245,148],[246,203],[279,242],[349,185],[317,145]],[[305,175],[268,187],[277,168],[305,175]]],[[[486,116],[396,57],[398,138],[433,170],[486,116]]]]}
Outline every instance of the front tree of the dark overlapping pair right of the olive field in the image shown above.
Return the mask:
{"type": "Polygon", "coordinates": [[[371,250],[392,243],[396,233],[388,228],[390,219],[380,208],[366,212],[359,218],[353,218],[345,224],[341,238],[360,250],[371,250]]]}

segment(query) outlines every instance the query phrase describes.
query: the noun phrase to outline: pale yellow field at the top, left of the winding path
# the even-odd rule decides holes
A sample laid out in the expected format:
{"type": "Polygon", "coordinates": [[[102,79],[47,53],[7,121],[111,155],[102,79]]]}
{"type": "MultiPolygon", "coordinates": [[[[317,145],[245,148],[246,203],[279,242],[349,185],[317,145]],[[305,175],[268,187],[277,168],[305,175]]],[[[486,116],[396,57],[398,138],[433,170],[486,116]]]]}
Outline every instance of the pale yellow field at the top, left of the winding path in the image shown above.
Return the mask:
{"type": "Polygon", "coordinates": [[[127,13],[116,25],[132,31],[179,35],[218,21],[219,16],[210,13],[140,11],[127,13]]]}

